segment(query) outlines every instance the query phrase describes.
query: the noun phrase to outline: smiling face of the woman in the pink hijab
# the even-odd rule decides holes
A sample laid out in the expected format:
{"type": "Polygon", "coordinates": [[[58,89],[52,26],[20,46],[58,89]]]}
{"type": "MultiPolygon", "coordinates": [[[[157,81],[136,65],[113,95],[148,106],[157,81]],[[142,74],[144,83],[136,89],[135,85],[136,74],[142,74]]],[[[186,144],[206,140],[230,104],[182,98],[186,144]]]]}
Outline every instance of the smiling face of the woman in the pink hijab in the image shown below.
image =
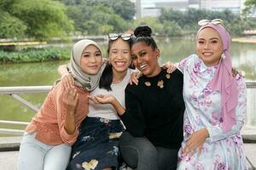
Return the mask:
{"type": "Polygon", "coordinates": [[[218,31],[210,27],[201,30],[197,35],[196,50],[205,65],[217,65],[224,50],[218,31]]]}

